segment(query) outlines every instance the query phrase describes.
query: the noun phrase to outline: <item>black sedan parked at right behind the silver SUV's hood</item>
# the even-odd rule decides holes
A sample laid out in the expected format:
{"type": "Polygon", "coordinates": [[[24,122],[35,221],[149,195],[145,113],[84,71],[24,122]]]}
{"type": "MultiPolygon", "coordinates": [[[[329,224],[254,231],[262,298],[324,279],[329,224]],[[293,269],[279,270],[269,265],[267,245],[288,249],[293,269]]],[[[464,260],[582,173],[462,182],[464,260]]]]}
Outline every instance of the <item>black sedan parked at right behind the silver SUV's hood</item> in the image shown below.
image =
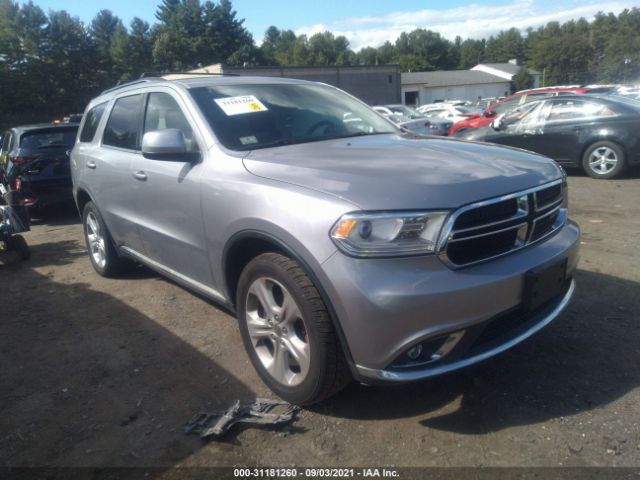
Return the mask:
{"type": "Polygon", "coordinates": [[[593,178],[608,179],[640,164],[638,132],[637,100],[557,95],[523,103],[490,118],[484,126],[458,129],[454,136],[523,148],[565,167],[582,168],[593,178]]]}

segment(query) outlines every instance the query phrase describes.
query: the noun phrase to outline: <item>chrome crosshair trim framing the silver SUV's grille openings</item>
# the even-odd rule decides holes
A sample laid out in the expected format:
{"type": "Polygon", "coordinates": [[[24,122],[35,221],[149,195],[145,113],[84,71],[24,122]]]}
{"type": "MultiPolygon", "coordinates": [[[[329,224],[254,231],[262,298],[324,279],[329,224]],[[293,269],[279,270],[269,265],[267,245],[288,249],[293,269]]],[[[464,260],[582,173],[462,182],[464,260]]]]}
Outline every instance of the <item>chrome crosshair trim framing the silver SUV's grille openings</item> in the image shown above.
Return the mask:
{"type": "Polygon", "coordinates": [[[529,245],[533,245],[547,238],[549,235],[557,231],[567,221],[567,209],[562,208],[562,202],[564,198],[564,179],[554,180],[553,182],[540,185],[538,187],[522,190],[519,192],[511,193],[508,195],[502,195],[500,197],[483,200],[480,202],[465,205],[459,208],[447,220],[436,248],[436,254],[440,257],[443,263],[452,269],[458,269],[475,265],[481,262],[486,262],[494,258],[508,255],[514,251],[525,248],[529,245]],[[547,190],[560,185],[560,193],[558,197],[554,197],[551,201],[545,202],[543,205],[538,205],[538,192],[547,190]],[[518,209],[517,213],[511,215],[508,218],[503,218],[497,221],[489,222],[486,224],[478,224],[473,227],[465,227],[461,229],[455,229],[456,221],[463,213],[476,210],[482,207],[495,205],[501,202],[509,200],[517,201],[518,209]],[[558,212],[558,216],[555,222],[549,227],[549,231],[542,234],[540,237],[533,239],[537,225],[540,220],[543,220],[554,213],[558,212]],[[524,222],[523,222],[524,220],[524,222]],[[512,225],[509,225],[512,223],[512,225]],[[491,230],[493,227],[495,230],[491,230]],[[486,230],[490,231],[486,231],[486,230]],[[466,263],[456,263],[448,255],[447,250],[449,244],[456,244],[462,241],[468,241],[473,244],[473,240],[482,237],[489,237],[491,235],[498,235],[510,230],[518,230],[516,239],[513,246],[504,252],[482,257],[477,260],[469,261],[466,263]],[[468,234],[469,232],[479,231],[478,235],[468,235],[463,237],[456,237],[456,235],[468,234]],[[532,240],[533,239],[533,240],[532,240]]]}

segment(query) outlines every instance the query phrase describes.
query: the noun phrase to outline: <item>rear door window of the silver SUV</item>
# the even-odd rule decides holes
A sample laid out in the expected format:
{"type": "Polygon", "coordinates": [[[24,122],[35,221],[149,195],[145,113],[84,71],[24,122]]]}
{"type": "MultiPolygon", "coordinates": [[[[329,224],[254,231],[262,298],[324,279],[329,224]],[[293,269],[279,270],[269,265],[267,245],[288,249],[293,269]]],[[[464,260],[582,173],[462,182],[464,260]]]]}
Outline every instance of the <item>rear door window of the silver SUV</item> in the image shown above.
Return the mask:
{"type": "Polygon", "coordinates": [[[142,95],[131,95],[116,100],[104,129],[102,143],[139,150],[141,101],[142,95]]]}

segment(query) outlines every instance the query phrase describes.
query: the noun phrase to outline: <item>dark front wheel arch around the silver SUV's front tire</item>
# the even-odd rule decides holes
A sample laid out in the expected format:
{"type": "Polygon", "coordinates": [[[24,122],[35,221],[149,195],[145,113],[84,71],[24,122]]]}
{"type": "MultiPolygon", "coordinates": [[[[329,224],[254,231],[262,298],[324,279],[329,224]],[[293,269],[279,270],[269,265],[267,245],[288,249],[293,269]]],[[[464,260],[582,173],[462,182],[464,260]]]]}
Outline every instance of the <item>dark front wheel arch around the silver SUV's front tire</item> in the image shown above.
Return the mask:
{"type": "Polygon", "coordinates": [[[276,252],[282,255],[286,255],[293,260],[297,261],[311,278],[314,286],[317,288],[322,301],[327,307],[331,323],[340,342],[342,352],[349,365],[354,378],[357,375],[355,368],[355,362],[351,356],[351,350],[346,341],[346,337],[338,320],[333,304],[326,290],[324,289],[322,282],[315,274],[309,263],[305,261],[303,256],[296,252],[291,246],[289,246],[284,240],[277,236],[267,233],[261,230],[243,230],[233,235],[225,244],[222,252],[222,273],[224,278],[224,287],[226,290],[227,298],[231,303],[234,310],[236,310],[236,294],[238,280],[244,267],[255,257],[267,252],[276,252]]]}

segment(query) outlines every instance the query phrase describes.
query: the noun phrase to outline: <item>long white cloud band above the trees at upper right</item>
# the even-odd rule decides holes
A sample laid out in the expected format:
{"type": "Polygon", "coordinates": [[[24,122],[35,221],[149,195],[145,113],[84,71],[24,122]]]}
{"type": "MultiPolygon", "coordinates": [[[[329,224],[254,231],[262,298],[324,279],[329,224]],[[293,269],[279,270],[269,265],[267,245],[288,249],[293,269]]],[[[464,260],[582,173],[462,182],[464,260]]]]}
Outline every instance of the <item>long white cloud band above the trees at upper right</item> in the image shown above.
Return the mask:
{"type": "Polygon", "coordinates": [[[463,39],[488,38],[511,27],[525,30],[551,21],[562,23],[580,17],[591,19],[599,11],[619,13],[636,6],[635,3],[629,0],[587,1],[572,2],[557,8],[549,8],[539,0],[515,0],[491,5],[473,3],[442,10],[398,11],[381,16],[345,18],[327,24],[300,27],[295,32],[297,35],[313,35],[329,30],[335,35],[344,35],[349,39],[351,48],[359,50],[362,47],[377,47],[386,41],[394,42],[402,32],[416,28],[439,32],[449,40],[458,35],[463,39]]]}

